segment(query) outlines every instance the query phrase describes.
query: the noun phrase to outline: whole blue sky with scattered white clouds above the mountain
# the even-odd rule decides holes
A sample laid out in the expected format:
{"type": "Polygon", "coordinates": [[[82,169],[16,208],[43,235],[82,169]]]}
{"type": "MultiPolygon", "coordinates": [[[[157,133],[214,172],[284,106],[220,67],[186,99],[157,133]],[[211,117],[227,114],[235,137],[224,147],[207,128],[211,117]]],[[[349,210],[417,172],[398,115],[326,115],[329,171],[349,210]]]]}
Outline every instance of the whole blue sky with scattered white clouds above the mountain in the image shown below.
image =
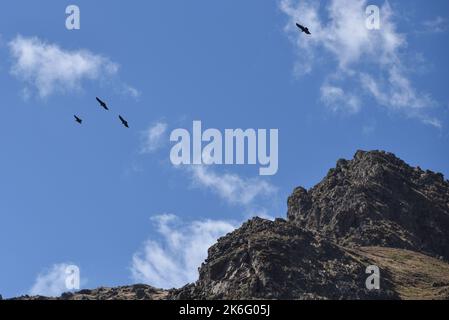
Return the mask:
{"type": "Polygon", "coordinates": [[[449,175],[445,0],[369,2],[378,31],[361,0],[75,1],[74,31],[69,4],[0,11],[3,296],[59,293],[67,264],[85,287],[193,281],[219,235],[285,217],[296,186],[358,149],[449,175]],[[279,129],[278,173],[174,168],[169,133],[193,120],[279,129]]]}

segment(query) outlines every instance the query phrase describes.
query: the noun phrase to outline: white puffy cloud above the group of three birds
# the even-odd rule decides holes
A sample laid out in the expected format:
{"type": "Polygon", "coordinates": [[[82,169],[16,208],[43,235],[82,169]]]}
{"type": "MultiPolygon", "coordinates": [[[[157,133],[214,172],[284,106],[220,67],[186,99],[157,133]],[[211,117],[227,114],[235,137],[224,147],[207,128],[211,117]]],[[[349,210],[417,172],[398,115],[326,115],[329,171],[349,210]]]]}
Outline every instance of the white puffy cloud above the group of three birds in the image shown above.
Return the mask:
{"type": "MultiPolygon", "coordinates": [[[[55,93],[79,91],[86,80],[102,80],[116,76],[118,64],[88,50],[64,50],[37,37],[17,36],[9,42],[14,64],[13,76],[23,81],[29,93],[33,88],[41,98],[55,93]]],[[[123,85],[123,84],[122,84],[123,85]]],[[[138,93],[125,86],[127,94],[138,93]]]]}

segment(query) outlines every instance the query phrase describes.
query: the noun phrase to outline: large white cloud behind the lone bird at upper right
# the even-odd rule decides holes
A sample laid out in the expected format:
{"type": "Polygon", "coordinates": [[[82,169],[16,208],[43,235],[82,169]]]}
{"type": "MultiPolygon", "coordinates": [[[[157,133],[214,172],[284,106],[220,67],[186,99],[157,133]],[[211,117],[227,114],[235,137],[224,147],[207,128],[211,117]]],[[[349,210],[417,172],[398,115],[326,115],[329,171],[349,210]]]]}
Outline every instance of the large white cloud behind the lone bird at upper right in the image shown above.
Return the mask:
{"type": "Polygon", "coordinates": [[[281,10],[289,17],[285,31],[300,49],[298,58],[302,62],[299,63],[305,65],[305,71],[312,70],[317,60],[317,49],[325,49],[326,53],[332,54],[339,68],[349,70],[362,60],[377,63],[391,61],[395,59],[397,49],[406,43],[405,37],[396,32],[391,22],[392,12],[388,4],[382,8],[379,32],[366,28],[365,0],[331,0],[326,3],[327,19],[321,21],[318,1],[280,2],[281,10]],[[312,31],[310,38],[305,39],[298,32],[295,26],[298,21],[312,31]]]}

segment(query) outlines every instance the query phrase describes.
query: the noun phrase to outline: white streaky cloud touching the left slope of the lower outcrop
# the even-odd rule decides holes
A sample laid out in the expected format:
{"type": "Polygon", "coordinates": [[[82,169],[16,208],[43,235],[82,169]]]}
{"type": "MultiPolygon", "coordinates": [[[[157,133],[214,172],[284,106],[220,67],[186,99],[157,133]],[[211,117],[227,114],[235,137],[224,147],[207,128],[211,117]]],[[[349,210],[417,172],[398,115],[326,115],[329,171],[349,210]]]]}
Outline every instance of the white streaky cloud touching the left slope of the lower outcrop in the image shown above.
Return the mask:
{"type": "Polygon", "coordinates": [[[136,282],[164,289],[196,281],[208,248],[236,228],[232,222],[221,220],[184,223],[172,214],[156,216],[152,221],[161,240],[146,241],[133,255],[131,273],[136,282]]]}

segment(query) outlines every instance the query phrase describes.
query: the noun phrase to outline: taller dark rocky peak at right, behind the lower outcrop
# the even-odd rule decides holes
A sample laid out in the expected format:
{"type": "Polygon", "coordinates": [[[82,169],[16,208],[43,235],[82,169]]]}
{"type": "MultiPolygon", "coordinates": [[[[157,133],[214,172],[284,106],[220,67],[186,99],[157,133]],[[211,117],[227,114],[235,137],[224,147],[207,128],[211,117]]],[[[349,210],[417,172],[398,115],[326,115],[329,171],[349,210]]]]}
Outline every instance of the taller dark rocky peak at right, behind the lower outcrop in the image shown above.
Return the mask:
{"type": "Polygon", "coordinates": [[[449,182],[391,153],[356,153],[288,199],[288,219],[345,246],[386,246],[449,260],[449,182]]]}

